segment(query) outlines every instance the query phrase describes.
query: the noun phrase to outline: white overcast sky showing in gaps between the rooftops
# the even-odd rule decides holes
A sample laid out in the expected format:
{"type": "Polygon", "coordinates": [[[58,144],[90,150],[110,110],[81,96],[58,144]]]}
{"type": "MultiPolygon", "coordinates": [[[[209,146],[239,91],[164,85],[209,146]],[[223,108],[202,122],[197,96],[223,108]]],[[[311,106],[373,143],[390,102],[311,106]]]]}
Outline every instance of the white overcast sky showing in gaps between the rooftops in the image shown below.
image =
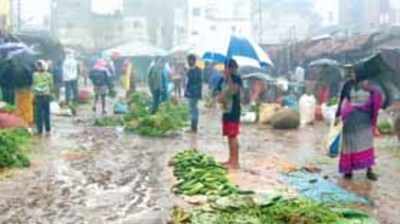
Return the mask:
{"type": "MultiPolygon", "coordinates": [[[[123,0],[93,0],[92,10],[97,13],[112,13],[122,8],[123,0]]],[[[250,1],[250,0],[243,0],[250,1]]],[[[329,15],[333,15],[333,22],[337,21],[338,0],[314,0],[317,11],[324,18],[324,22],[329,21],[329,15]]],[[[49,14],[50,0],[24,0],[23,15],[24,19],[34,24],[43,22],[43,18],[49,14]]],[[[400,2],[400,1],[399,1],[400,2]]]]}

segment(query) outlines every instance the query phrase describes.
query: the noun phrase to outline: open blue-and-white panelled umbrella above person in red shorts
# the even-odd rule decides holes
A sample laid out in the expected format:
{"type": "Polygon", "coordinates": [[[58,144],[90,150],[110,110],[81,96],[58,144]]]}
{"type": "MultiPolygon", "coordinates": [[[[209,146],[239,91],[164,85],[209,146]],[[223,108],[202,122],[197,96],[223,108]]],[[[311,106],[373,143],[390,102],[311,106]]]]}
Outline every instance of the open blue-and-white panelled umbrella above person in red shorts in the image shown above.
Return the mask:
{"type": "Polygon", "coordinates": [[[206,41],[201,47],[204,60],[224,63],[234,58],[240,66],[273,66],[268,54],[255,42],[246,37],[231,35],[206,41]]]}

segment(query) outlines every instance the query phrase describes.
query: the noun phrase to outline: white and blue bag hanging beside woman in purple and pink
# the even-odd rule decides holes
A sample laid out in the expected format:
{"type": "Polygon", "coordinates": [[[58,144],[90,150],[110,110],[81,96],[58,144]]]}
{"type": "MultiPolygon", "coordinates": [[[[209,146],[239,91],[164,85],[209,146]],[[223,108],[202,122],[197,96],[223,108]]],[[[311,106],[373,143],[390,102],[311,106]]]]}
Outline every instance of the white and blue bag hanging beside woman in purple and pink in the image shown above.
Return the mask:
{"type": "Polygon", "coordinates": [[[335,125],[335,121],[332,122],[329,134],[326,140],[326,148],[329,151],[330,157],[337,157],[342,147],[342,130],[343,123],[339,122],[335,125]]]}

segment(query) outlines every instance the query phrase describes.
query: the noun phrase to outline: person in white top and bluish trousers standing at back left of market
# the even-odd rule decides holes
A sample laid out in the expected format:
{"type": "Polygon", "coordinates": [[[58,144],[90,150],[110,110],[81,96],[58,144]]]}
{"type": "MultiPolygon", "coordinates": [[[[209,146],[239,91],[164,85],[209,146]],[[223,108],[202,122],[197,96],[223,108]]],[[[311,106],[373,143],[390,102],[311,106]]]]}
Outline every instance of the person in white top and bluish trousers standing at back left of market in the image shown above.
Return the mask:
{"type": "Polygon", "coordinates": [[[73,52],[68,52],[63,66],[65,83],[65,101],[67,104],[78,100],[78,62],[73,52]]]}

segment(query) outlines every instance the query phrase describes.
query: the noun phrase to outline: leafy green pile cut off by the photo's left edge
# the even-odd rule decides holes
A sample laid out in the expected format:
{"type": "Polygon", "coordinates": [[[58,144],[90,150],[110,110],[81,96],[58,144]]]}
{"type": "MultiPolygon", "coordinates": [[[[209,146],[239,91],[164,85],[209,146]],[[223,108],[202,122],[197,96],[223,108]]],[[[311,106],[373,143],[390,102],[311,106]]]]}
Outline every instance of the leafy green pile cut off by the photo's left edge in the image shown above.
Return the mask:
{"type": "Polygon", "coordinates": [[[24,146],[30,137],[26,129],[0,130],[0,168],[30,166],[30,161],[24,152],[24,146]]]}

